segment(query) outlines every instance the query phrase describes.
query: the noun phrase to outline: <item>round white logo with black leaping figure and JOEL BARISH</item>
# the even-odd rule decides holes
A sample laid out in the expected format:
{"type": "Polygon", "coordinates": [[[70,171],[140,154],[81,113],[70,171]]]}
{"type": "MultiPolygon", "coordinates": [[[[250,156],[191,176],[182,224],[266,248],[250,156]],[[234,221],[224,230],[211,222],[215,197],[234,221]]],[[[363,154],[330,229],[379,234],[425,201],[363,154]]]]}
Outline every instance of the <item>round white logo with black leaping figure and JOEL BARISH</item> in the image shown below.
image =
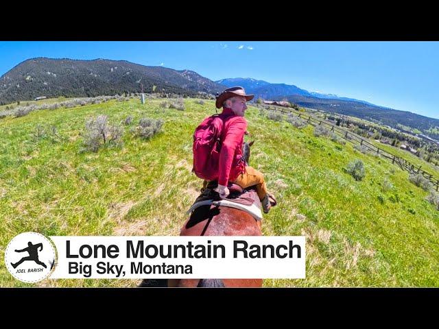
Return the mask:
{"type": "Polygon", "coordinates": [[[5,264],[14,278],[23,282],[43,280],[55,264],[55,249],[45,236],[25,232],[6,247],[5,264]]]}

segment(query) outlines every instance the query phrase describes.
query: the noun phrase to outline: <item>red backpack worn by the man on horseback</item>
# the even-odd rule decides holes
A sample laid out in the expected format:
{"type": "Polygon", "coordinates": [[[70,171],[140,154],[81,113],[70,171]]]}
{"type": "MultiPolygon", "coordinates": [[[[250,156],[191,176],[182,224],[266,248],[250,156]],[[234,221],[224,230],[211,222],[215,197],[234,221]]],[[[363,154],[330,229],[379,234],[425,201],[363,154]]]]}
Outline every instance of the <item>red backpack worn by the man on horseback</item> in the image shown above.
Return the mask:
{"type": "Polygon", "coordinates": [[[193,133],[192,171],[203,180],[217,180],[218,178],[223,125],[222,117],[219,114],[214,114],[204,119],[193,133]]]}

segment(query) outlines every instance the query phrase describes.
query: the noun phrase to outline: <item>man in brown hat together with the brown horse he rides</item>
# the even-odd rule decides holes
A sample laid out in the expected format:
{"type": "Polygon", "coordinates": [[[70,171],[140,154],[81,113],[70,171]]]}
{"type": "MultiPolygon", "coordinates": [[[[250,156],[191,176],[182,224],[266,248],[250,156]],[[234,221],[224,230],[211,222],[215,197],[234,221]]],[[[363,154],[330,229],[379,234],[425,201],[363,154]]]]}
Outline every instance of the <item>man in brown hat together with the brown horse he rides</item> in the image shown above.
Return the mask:
{"type": "MultiPolygon", "coordinates": [[[[195,204],[200,206],[195,207],[194,204],[191,207],[191,216],[180,230],[181,236],[261,236],[261,218],[255,219],[257,214],[254,211],[242,210],[243,207],[236,204],[230,206],[230,198],[234,193],[236,202],[236,189],[239,186],[254,186],[256,189],[256,192],[253,188],[249,191],[241,189],[238,193],[238,199],[247,201],[244,202],[247,210],[256,204],[257,211],[261,214],[259,200],[265,213],[276,205],[276,199],[267,193],[262,173],[248,166],[252,143],[243,147],[247,127],[244,119],[246,102],[252,98],[253,95],[246,95],[242,87],[224,90],[216,101],[217,108],[223,107],[222,113],[204,119],[195,130],[193,171],[198,177],[204,178],[204,192],[195,200],[195,204]],[[219,149],[216,147],[217,143],[220,145],[219,149]],[[229,202],[228,205],[213,206],[213,202],[217,201],[210,193],[211,188],[206,189],[210,185],[207,177],[213,180],[213,186],[216,186],[217,180],[215,191],[222,199],[221,202],[229,202]],[[224,200],[230,194],[227,187],[229,183],[239,186],[233,186],[233,193],[229,199],[224,200]],[[205,193],[207,191],[209,193],[205,193]]],[[[262,287],[262,279],[145,279],[139,287],[262,287]]]]}

